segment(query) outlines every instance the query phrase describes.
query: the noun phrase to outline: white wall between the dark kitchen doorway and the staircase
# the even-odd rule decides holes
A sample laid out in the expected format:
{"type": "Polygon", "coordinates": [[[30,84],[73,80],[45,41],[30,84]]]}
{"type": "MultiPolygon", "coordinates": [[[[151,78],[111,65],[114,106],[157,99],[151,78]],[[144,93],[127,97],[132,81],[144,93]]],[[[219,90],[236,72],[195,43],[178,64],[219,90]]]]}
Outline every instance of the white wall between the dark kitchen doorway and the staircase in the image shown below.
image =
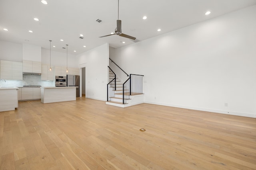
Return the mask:
{"type": "Polygon", "coordinates": [[[106,101],[108,80],[108,43],[77,56],[80,65],[86,64],[86,98],[106,101]]]}

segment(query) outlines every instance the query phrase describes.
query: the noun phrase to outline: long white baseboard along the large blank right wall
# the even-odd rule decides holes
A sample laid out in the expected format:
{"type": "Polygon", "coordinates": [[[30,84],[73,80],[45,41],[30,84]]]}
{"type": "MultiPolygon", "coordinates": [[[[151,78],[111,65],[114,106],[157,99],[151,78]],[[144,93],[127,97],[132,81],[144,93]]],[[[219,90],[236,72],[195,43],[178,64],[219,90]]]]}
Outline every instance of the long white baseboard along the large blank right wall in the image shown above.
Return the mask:
{"type": "Polygon", "coordinates": [[[214,113],[222,113],[222,114],[228,114],[228,115],[237,115],[237,116],[256,118],[256,114],[253,114],[253,113],[242,113],[242,112],[235,112],[235,111],[208,109],[208,108],[202,108],[202,107],[180,106],[180,105],[174,105],[174,104],[165,104],[165,103],[148,102],[148,101],[144,101],[144,103],[156,104],[156,105],[161,105],[161,106],[178,107],[178,108],[183,108],[183,109],[192,109],[192,110],[199,110],[199,111],[208,111],[208,112],[214,112],[214,113]]]}

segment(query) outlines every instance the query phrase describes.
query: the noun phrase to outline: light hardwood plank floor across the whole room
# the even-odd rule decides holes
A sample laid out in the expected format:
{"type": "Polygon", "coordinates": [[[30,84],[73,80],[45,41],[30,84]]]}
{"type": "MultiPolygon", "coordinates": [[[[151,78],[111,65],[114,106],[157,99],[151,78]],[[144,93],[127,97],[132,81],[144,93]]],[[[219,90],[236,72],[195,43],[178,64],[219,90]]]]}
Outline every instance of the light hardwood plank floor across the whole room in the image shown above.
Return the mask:
{"type": "Polygon", "coordinates": [[[0,169],[252,170],[256,119],[85,98],[19,102],[0,112],[0,169]]]}

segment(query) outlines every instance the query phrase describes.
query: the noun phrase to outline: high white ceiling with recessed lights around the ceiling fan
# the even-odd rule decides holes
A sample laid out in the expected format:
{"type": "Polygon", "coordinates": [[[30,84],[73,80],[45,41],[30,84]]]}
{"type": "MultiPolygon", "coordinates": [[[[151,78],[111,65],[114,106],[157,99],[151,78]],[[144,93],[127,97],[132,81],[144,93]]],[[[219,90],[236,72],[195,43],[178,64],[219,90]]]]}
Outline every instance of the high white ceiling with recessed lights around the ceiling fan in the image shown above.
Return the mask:
{"type": "MultiPolygon", "coordinates": [[[[46,1],[47,5],[41,0],[0,0],[0,40],[45,49],[50,49],[49,40],[52,40],[56,46],[52,50],[66,52],[62,47],[68,44],[68,53],[73,55],[104,43],[114,48],[135,43],[118,35],[99,38],[114,32],[118,0],[46,1]],[[97,19],[102,22],[98,23],[97,19]],[[79,38],[80,34],[84,39],[79,38]]],[[[120,0],[119,19],[122,33],[142,41],[252,5],[256,5],[256,0],[120,0]],[[204,15],[208,10],[212,13],[204,15]],[[147,19],[142,20],[143,16],[147,19]],[[158,32],[158,28],[162,31],[158,32]]]]}

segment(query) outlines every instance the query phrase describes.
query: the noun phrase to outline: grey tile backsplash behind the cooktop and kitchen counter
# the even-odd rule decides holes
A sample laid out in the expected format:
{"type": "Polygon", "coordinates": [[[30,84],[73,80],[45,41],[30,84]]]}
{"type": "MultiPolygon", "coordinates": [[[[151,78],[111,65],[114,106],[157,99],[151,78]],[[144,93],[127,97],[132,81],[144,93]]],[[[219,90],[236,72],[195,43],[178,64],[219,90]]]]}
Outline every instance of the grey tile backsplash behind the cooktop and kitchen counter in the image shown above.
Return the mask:
{"type": "Polygon", "coordinates": [[[23,74],[23,80],[0,80],[0,86],[2,87],[22,87],[22,86],[55,86],[54,81],[41,80],[41,75],[23,74]]]}

